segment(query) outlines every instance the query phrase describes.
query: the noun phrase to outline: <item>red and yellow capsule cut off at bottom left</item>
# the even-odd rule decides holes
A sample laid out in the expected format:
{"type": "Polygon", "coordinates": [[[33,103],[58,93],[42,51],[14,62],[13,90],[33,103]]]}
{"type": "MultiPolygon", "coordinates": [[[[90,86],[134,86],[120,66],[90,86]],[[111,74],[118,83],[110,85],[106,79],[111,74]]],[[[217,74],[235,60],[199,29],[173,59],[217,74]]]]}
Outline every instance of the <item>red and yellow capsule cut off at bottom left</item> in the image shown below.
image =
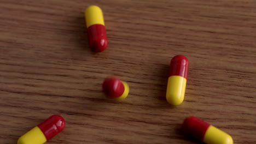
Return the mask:
{"type": "Polygon", "coordinates": [[[43,144],[65,128],[65,120],[59,115],[53,115],[37,125],[18,140],[18,144],[43,144]]]}

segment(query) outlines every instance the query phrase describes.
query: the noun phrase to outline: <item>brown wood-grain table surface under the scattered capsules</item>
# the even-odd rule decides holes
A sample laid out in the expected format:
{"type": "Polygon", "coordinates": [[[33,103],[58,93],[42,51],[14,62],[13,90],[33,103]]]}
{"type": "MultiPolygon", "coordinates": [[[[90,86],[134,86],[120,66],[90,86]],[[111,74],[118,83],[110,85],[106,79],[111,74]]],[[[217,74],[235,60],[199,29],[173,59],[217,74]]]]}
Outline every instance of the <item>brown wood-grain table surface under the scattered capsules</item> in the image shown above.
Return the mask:
{"type": "Polygon", "coordinates": [[[256,143],[256,1],[0,1],[0,141],[53,114],[66,119],[54,143],[198,143],[184,136],[196,116],[256,143]],[[88,47],[84,10],[104,12],[108,48],[88,47]],[[185,100],[165,100],[170,60],[190,61],[185,100]],[[107,99],[109,75],[129,83],[107,99]]]}

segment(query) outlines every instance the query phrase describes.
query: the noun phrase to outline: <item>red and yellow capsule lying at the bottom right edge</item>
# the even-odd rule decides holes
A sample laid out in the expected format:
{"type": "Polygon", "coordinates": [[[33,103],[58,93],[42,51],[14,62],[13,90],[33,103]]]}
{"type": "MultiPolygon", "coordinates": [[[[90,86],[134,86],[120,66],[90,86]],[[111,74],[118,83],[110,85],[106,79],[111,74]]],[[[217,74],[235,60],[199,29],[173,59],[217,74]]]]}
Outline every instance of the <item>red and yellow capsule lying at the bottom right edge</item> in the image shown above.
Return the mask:
{"type": "Polygon", "coordinates": [[[233,144],[233,139],[229,134],[197,117],[191,116],[186,118],[182,127],[185,134],[207,144],[233,144]]]}

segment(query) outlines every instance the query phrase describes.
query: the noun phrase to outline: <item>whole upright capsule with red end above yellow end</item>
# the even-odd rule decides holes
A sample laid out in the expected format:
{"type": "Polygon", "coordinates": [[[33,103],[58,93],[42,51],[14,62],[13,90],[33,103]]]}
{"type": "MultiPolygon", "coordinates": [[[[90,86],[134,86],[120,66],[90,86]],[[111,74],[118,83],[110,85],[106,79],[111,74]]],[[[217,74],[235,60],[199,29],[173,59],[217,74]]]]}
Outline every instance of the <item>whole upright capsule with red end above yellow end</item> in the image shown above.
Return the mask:
{"type": "Polygon", "coordinates": [[[189,61],[185,56],[177,55],[171,60],[166,91],[166,100],[171,105],[179,105],[184,100],[188,66],[189,61]]]}

